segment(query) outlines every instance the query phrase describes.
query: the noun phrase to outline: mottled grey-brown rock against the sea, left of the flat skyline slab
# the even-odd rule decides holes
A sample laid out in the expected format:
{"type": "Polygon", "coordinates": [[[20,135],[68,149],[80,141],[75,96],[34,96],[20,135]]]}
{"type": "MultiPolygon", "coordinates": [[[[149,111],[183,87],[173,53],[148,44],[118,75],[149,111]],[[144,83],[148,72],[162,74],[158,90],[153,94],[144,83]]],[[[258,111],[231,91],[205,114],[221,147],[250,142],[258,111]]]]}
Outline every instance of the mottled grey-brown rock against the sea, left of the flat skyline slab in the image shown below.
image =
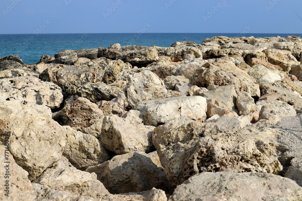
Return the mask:
{"type": "Polygon", "coordinates": [[[54,60],[49,60],[47,63],[73,65],[78,56],[74,50],[62,50],[55,54],[54,60]]]}

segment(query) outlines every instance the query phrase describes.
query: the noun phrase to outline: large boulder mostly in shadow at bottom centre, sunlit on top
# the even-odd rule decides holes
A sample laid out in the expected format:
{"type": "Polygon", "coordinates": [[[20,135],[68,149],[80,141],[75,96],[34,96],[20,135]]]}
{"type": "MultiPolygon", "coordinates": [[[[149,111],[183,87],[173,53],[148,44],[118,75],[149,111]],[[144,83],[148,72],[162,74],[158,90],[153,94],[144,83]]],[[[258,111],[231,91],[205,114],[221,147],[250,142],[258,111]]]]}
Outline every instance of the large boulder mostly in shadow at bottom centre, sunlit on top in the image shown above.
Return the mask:
{"type": "Polygon", "coordinates": [[[101,165],[87,168],[95,172],[110,193],[129,193],[151,190],[153,187],[169,189],[169,181],[163,168],[156,164],[144,152],[130,152],[114,156],[101,165]]]}

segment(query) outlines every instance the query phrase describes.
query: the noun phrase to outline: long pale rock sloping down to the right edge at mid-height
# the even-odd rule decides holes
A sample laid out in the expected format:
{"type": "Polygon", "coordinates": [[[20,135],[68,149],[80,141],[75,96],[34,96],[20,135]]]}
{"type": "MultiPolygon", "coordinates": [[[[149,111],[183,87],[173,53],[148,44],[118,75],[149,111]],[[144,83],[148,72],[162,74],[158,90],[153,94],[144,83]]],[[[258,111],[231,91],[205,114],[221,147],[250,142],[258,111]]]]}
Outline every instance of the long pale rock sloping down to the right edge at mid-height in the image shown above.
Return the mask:
{"type": "Polygon", "coordinates": [[[297,113],[302,113],[302,97],[299,93],[265,83],[260,83],[260,88],[262,95],[280,93],[281,96],[278,96],[277,100],[292,105],[297,113]]]}

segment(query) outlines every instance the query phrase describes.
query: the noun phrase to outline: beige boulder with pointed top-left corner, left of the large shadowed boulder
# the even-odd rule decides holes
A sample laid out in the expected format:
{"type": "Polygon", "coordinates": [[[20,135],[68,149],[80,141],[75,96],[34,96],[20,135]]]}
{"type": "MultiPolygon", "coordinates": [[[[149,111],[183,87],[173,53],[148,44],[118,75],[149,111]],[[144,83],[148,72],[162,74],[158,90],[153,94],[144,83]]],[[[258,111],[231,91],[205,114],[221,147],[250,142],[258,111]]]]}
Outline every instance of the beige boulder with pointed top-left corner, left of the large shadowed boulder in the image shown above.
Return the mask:
{"type": "Polygon", "coordinates": [[[66,126],[65,129],[66,146],[63,150],[63,156],[74,167],[85,171],[90,166],[109,160],[109,153],[96,137],[75,131],[69,126],[66,126]]]}

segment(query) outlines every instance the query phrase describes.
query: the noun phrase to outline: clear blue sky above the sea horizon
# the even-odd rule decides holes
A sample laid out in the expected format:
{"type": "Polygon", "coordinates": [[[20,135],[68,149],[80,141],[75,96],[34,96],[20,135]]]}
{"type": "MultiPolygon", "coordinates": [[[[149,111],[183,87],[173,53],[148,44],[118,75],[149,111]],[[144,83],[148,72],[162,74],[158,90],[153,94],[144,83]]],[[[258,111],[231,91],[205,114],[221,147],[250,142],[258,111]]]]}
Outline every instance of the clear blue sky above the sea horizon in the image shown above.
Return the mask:
{"type": "Polygon", "coordinates": [[[0,34],[302,33],[301,8],[301,0],[1,0],[0,34]]]}

